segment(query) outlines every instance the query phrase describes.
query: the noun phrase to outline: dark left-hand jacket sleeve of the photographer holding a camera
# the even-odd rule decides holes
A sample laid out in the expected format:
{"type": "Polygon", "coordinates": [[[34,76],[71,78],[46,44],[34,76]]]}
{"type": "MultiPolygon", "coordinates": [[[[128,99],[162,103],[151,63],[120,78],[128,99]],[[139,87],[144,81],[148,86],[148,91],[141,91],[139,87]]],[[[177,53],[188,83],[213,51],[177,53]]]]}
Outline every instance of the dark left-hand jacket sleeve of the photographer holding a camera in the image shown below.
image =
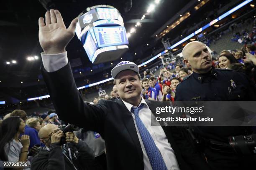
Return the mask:
{"type": "Polygon", "coordinates": [[[59,143],[53,143],[50,148],[49,158],[41,159],[38,155],[33,158],[31,170],[65,170],[64,156],[59,143]]]}

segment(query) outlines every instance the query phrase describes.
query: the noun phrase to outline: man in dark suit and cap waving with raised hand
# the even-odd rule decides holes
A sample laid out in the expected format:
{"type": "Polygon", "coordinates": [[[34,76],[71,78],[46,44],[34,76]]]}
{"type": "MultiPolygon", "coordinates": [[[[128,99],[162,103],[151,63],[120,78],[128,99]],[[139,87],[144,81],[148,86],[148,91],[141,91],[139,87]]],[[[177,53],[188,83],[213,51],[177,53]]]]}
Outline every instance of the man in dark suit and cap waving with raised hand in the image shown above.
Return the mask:
{"type": "Polygon", "coordinates": [[[76,23],[74,19],[66,29],[58,10],[46,12],[45,23],[39,18],[41,70],[61,120],[102,135],[110,170],[206,170],[205,160],[178,128],[151,126],[151,110],[159,103],[141,97],[139,70],[133,62],[120,62],[111,71],[121,100],[83,102],[65,51],[76,23]]]}

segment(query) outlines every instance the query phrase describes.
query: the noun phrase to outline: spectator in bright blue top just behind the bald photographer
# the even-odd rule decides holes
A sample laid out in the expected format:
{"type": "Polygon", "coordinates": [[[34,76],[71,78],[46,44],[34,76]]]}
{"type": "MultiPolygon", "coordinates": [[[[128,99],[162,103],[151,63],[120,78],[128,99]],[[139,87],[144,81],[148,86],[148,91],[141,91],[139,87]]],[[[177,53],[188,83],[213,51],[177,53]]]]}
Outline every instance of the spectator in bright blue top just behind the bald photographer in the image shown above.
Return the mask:
{"type": "Polygon", "coordinates": [[[38,132],[41,129],[40,122],[37,118],[31,117],[26,121],[26,127],[25,127],[25,135],[29,136],[30,139],[30,145],[28,150],[30,150],[33,146],[36,144],[41,146],[40,139],[38,137],[38,132]]]}

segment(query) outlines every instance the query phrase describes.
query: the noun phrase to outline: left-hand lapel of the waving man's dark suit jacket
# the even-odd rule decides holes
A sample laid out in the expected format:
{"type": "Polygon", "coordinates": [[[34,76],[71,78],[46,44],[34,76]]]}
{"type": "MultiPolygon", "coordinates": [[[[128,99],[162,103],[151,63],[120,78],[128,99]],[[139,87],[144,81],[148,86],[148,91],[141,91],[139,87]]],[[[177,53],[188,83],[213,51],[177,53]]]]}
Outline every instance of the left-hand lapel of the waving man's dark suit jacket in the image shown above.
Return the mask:
{"type": "Polygon", "coordinates": [[[126,129],[128,130],[128,133],[131,136],[131,139],[133,140],[133,143],[138,152],[138,157],[140,158],[140,162],[142,162],[143,166],[143,153],[131,112],[127,109],[122,100],[118,100],[118,107],[120,107],[119,109],[122,112],[123,124],[125,125],[126,129]]]}

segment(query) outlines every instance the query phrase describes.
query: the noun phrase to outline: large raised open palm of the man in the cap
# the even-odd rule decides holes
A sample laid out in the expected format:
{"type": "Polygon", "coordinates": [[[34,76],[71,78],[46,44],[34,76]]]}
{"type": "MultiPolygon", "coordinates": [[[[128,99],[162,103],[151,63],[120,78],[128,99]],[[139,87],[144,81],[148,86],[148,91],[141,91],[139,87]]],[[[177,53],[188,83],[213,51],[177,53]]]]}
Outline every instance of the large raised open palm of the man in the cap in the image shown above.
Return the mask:
{"type": "Polygon", "coordinates": [[[75,18],[66,28],[61,13],[58,10],[51,9],[45,13],[44,18],[40,17],[39,25],[39,42],[46,54],[57,54],[65,51],[65,47],[74,37],[78,19],[75,18]]]}

